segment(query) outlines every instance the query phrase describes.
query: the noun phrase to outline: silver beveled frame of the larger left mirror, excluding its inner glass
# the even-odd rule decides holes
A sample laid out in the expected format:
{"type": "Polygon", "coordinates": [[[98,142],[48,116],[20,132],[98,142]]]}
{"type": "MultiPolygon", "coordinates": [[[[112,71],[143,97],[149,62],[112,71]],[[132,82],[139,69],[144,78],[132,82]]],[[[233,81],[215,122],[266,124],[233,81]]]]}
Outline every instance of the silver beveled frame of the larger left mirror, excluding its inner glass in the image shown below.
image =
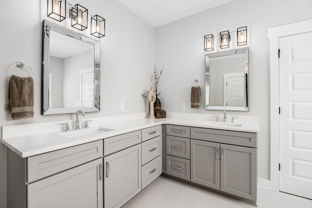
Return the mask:
{"type": "Polygon", "coordinates": [[[99,112],[100,111],[100,42],[93,38],[81,35],[77,32],[49,22],[42,21],[42,73],[41,73],[41,114],[64,114],[76,113],[77,111],[84,112],[99,112]],[[74,108],[49,108],[49,66],[50,66],[50,30],[56,31],[65,36],[78,39],[80,41],[94,45],[94,107],[74,107],[74,108]],[[96,82],[96,77],[98,80],[96,82]]]}

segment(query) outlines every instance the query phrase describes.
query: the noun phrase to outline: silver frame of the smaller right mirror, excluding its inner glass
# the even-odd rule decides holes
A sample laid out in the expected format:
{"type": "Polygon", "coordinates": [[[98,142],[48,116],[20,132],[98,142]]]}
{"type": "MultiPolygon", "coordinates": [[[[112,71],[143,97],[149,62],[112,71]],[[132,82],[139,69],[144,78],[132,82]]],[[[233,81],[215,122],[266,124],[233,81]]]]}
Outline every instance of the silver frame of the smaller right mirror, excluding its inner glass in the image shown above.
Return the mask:
{"type": "MultiPolygon", "coordinates": [[[[227,110],[227,111],[249,111],[249,48],[240,48],[240,49],[235,49],[235,50],[230,50],[230,51],[223,51],[223,52],[217,52],[217,53],[210,53],[210,54],[205,54],[205,80],[206,80],[206,73],[207,73],[207,68],[210,70],[210,64],[207,64],[207,58],[214,58],[214,57],[223,57],[223,56],[229,56],[229,55],[235,55],[235,54],[244,54],[247,53],[247,63],[244,63],[246,65],[246,71],[247,71],[247,78],[245,79],[245,86],[246,88],[246,101],[245,101],[245,106],[243,107],[238,107],[238,106],[208,106],[206,108],[206,81],[205,81],[205,109],[206,110],[227,110]]],[[[210,90],[210,89],[209,89],[210,90]]]]}

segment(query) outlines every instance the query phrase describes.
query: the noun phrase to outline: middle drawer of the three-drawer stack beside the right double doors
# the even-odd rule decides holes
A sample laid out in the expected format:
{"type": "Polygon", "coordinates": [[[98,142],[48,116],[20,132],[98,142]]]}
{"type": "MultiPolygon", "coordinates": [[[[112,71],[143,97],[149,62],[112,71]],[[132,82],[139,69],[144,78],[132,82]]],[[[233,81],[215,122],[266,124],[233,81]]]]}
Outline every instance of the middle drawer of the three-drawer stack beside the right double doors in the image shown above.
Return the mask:
{"type": "Polygon", "coordinates": [[[167,136],[167,154],[190,159],[190,139],[167,136]]]}

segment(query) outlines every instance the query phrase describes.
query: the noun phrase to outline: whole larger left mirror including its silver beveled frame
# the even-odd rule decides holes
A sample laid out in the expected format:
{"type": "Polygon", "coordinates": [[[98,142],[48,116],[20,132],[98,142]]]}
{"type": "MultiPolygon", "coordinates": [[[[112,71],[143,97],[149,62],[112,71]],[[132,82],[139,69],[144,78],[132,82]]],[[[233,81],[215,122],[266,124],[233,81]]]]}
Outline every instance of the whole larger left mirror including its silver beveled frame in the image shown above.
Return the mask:
{"type": "Polygon", "coordinates": [[[42,22],[42,114],[100,110],[100,42],[42,22]]]}

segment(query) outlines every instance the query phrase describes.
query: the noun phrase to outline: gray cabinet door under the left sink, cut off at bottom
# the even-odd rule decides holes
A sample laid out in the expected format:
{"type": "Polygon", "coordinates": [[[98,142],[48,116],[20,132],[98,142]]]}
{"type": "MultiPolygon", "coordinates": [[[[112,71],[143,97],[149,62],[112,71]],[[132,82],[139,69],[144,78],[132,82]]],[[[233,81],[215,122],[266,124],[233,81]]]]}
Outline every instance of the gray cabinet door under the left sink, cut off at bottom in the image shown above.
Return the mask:
{"type": "Polygon", "coordinates": [[[27,185],[28,208],[102,208],[103,159],[27,185]]]}

